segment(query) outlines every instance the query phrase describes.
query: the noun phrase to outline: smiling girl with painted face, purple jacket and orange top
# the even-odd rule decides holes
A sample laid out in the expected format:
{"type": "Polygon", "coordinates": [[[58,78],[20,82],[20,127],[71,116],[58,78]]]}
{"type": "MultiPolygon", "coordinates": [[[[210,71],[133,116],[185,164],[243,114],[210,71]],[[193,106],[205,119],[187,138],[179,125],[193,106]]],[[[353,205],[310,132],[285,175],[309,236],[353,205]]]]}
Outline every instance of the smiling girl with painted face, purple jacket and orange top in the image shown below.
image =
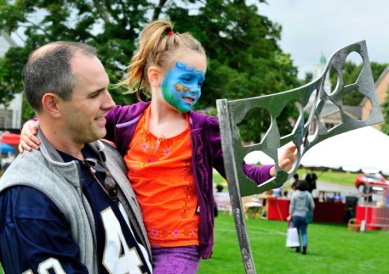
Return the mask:
{"type": "MultiPolygon", "coordinates": [[[[156,274],[196,273],[213,248],[213,168],[225,178],[219,123],[192,111],[206,68],[204,48],[192,35],[174,33],[167,21],[151,22],[121,83],[151,101],[117,105],[105,117],[106,139],[129,168],[156,274]]],[[[29,140],[21,146],[35,147],[29,140]]],[[[281,155],[283,169],[292,166],[294,151],[290,146],[281,155]]],[[[243,168],[258,184],[275,174],[274,166],[243,168]]]]}

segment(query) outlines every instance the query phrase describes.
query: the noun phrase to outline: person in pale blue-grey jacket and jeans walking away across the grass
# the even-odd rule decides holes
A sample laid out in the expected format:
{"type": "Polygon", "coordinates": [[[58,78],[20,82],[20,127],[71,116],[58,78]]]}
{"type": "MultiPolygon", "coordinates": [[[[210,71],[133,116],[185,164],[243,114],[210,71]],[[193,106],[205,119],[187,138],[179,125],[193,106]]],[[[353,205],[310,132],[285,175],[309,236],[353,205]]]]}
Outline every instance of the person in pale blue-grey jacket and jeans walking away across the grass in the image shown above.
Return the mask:
{"type": "MultiPolygon", "coordinates": [[[[292,194],[289,206],[289,216],[287,221],[292,221],[293,226],[299,232],[300,243],[302,242],[301,254],[306,255],[308,249],[308,223],[306,222],[306,212],[315,209],[315,202],[312,194],[308,191],[308,184],[305,180],[297,182],[297,191],[292,194]]],[[[301,251],[301,244],[296,248],[296,252],[301,251]]]]}

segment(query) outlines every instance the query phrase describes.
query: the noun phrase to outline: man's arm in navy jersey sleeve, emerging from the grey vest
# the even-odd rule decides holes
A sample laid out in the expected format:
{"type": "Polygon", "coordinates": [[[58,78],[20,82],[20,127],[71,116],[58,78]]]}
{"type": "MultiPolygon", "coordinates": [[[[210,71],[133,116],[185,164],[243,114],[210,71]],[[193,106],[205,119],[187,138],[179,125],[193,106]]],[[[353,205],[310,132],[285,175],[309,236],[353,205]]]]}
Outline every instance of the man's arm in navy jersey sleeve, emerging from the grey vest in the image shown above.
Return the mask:
{"type": "Polygon", "coordinates": [[[69,222],[47,196],[31,187],[12,187],[1,194],[4,273],[88,273],[78,257],[69,222]]]}

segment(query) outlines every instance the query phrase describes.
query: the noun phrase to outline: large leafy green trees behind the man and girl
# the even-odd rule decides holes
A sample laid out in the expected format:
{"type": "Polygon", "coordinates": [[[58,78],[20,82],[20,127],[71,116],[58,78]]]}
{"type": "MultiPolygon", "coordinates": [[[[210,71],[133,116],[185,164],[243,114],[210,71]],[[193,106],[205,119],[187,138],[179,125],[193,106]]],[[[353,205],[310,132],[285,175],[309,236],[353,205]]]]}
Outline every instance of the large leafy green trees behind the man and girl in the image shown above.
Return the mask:
{"type": "MultiPolygon", "coordinates": [[[[117,83],[136,50],[144,24],[167,17],[176,25],[176,31],[189,31],[197,37],[209,57],[197,109],[215,108],[216,99],[241,99],[299,86],[290,55],[277,44],[281,26],[259,15],[254,4],[242,0],[0,0],[0,28],[9,33],[22,28],[26,36],[24,46],[8,51],[0,62],[0,103],[21,92],[21,70],[28,54],[56,40],[96,46],[111,83],[117,83]]],[[[123,95],[123,90],[110,92],[118,104],[136,101],[133,95],[123,95]]],[[[291,105],[290,110],[293,108],[291,105]]],[[[31,110],[24,119],[30,115],[31,110]]],[[[281,130],[288,128],[290,112],[283,115],[281,130]]],[[[258,125],[268,117],[260,112],[250,114],[242,123],[242,138],[258,141],[267,128],[250,125],[258,125]]]]}

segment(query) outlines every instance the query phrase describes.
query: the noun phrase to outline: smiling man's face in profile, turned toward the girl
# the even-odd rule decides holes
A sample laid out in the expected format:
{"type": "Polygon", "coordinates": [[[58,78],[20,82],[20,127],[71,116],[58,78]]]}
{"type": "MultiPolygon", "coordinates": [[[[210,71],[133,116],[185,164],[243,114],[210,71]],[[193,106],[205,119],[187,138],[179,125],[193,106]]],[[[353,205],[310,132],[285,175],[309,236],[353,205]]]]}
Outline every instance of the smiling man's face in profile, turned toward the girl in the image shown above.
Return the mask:
{"type": "Polygon", "coordinates": [[[63,102],[64,130],[73,142],[94,142],[106,135],[105,116],[115,106],[108,93],[109,78],[95,56],[76,54],[72,71],[77,83],[72,99],[63,102]]]}

